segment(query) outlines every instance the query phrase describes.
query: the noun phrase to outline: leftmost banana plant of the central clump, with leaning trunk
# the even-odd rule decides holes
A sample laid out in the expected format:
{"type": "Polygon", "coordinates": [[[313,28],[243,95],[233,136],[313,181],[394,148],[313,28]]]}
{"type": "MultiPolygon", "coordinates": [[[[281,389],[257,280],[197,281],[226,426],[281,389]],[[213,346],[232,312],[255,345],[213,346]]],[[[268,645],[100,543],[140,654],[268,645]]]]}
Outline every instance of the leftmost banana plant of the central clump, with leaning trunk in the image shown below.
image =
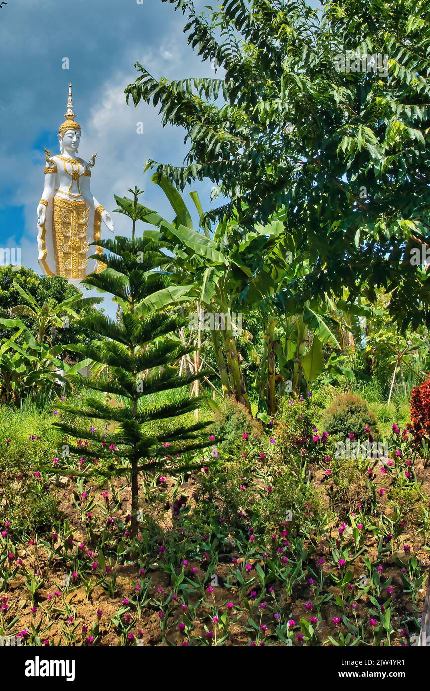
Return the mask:
{"type": "MultiPolygon", "coordinates": [[[[155,176],[153,182],[163,189],[175,218],[169,222],[147,209],[146,214],[139,214],[139,220],[155,226],[144,231],[144,237],[157,240],[160,247],[172,253],[171,270],[175,273],[177,285],[154,294],[151,299],[157,301],[157,307],[196,301],[197,311],[201,309],[209,314],[222,315],[222,327],[217,328],[216,319],[213,319],[209,329],[222,394],[234,395],[251,412],[233,316],[240,306],[238,296],[251,276],[251,269],[240,252],[231,245],[231,225],[219,223],[211,238],[203,223],[202,205],[196,192],[191,192],[190,198],[199,214],[198,230],[193,227],[190,212],[173,184],[165,178],[158,180],[155,176]]],[[[115,199],[119,207],[124,210],[130,208],[130,199],[115,199]]],[[[139,310],[143,311],[146,307],[149,305],[142,303],[139,310]]]]}

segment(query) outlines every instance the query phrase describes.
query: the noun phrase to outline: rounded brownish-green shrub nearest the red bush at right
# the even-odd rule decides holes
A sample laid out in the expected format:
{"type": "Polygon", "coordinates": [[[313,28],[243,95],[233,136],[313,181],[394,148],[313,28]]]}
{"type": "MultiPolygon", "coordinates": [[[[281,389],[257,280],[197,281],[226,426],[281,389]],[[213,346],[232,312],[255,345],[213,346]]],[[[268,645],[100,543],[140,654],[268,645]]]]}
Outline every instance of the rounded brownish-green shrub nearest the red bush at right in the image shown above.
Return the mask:
{"type": "Polygon", "coordinates": [[[326,409],[322,424],[333,439],[343,440],[353,434],[355,440],[365,441],[369,435],[373,439],[380,436],[375,413],[370,410],[367,401],[353,393],[338,396],[326,409]]]}

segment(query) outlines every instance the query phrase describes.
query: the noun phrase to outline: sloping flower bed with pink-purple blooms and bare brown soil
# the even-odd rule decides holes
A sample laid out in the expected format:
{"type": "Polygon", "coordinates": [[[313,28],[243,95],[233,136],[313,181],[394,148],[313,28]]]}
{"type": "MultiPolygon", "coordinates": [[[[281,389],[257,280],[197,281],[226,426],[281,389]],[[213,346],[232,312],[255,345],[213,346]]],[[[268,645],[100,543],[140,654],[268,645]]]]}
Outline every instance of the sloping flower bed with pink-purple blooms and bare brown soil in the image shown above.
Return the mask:
{"type": "MultiPolygon", "coordinates": [[[[3,406],[3,634],[26,645],[413,645],[430,468],[394,408],[378,422],[380,406],[327,388],[285,399],[267,428],[231,399],[204,408],[200,467],[166,443],[168,469],[139,477],[135,540],[130,486],[110,474],[116,447],[68,457],[68,444],[88,444],[52,426],[68,413],[3,406]],[[335,451],[336,429],[351,441],[388,426],[387,458],[354,454],[353,442],[335,451]]],[[[108,438],[104,421],[82,424],[108,438]]]]}

